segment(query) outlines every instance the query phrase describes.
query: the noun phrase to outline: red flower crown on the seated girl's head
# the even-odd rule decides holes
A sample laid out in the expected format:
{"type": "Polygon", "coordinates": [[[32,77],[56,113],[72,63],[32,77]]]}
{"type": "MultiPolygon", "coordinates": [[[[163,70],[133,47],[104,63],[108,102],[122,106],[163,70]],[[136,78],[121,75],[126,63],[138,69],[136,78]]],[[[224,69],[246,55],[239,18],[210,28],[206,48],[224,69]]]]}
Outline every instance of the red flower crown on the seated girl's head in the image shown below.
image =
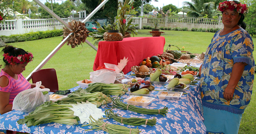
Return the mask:
{"type": "Polygon", "coordinates": [[[30,62],[33,60],[33,54],[30,52],[28,54],[24,54],[24,55],[18,55],[18,56],[12,56],[9,55],[9,53],[4,53],[3,54],[4,59],[11,65],[15,65],[15,64],[23,64],[24,62],[30,62]]]}

